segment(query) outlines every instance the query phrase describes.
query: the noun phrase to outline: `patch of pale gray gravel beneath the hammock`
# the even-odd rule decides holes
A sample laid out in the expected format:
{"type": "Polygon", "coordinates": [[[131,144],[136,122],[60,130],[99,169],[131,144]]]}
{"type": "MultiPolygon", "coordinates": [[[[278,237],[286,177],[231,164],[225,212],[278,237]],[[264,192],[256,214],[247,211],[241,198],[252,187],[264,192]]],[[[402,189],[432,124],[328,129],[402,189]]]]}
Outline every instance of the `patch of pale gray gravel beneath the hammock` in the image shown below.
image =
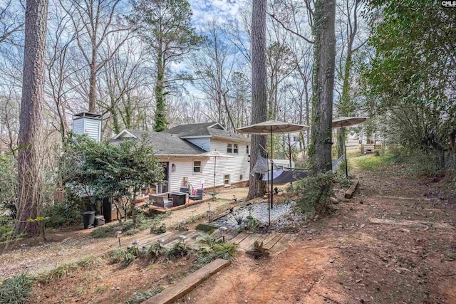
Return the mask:
{"type": "MultiPolygon", "coordinates": [[[[274,226],[283,226],[288,223],[290,220],[294,220],[294,209],[295,203],[291,201],[289,204],[276,204],[274,208],[271,209],[271,224],[274,223],[274,226]]],[[[228,214],[223,216],[220,219],[212,221],[213,224],[220,226],[229,226],[237,228],[237,218],[242,217],[243,219],[247,216],[253,216],[255,219],[259,220],[261,223],[267,224],[268,219],[268,203],[259,203],[252,204],[249,206],[242,206],[241,208],[234,211],[233,214],[228,214]]]]}

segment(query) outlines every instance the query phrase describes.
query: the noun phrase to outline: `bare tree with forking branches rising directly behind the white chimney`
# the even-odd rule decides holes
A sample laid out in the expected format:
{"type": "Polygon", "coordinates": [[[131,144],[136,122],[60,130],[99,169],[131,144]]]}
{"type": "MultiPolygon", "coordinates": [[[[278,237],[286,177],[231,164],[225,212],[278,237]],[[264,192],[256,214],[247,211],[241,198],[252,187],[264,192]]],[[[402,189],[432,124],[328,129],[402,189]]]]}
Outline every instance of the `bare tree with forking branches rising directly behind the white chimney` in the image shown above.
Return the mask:
{"type": "Polygon", "coordinates": [[[60,1],[63,9],[71,16],[78,47],[88,64],[88,110],[93,112],[97,102],[98,72],[130,38],[130,27],[125,26],[120,19],[120,0],[68,0],[69,5],[66,0],[60,1]],[[101,56],[100,48],[116,33],[122,33],[123,37],[114,46],[110,46],[110,53],[101,56]]]}

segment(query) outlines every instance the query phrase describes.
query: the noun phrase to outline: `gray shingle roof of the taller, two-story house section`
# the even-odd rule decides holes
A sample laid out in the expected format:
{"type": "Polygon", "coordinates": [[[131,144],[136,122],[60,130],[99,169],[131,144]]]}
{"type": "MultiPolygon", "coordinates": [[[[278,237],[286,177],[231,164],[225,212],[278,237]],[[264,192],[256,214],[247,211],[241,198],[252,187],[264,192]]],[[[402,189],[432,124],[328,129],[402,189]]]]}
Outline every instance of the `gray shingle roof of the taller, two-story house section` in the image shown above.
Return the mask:
{"type": "Polygon", "coordinates": [[[193,136],[208,136],[208,137],[224,137],[230,138],[244,138],[241,135],[223,130],[221,125],[217,122],[204,122],[204,123],[193,123],[189,125],[178,125],[172,127],[169,130],[163,132],[175,134],[179,137],[193,137],[193,136]],[[213,126],[213,127],[211,127],[213,126]]]}

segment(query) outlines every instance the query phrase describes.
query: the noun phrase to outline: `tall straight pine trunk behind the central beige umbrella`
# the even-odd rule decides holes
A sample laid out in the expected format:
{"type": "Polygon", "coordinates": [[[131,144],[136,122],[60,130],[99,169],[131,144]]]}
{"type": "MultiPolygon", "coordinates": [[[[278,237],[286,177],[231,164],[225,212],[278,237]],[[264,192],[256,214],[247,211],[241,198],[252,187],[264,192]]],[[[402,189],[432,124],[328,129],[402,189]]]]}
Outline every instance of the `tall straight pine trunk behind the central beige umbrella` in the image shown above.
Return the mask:
{"type": "MultiPolygon", "coordinates": [[[[252,7],[252,124],[263,122],[267,115],[266,99],[266,0],[254,0],[252,7]]],[[[250,170],[258,155],[265,156],[266,136],[252,135],[250,170]]],[[[262,196],[266,192],[264,182],[252,175],[249,179],[249,198],[262,196]]]]}

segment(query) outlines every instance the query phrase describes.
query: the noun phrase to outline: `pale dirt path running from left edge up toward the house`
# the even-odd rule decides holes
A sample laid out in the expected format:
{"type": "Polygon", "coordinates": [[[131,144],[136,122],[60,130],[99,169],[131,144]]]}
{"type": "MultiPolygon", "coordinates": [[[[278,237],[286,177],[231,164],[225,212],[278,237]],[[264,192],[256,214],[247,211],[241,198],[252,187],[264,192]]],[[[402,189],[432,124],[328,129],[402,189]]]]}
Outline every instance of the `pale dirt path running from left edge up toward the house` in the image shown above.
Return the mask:
{"type": "MultiPolygon", "coordinates": [[[[232,199],[232,194],[242,199],[247,196],[248,188],[222,189],[219,201],[211,202],[211,209],[227,209],[232,199]]],[[[204,216],[207,203],[197,204],[185,209],[172,211],[171,215],[162,221],[166,226],[179,224],[183,220],[191,220],[204,216]]],[[[7,249],[0,253],[0,281],[11,276],[16,276],[24,271],[28,273],[41,273],[48,271],[63,263],[78,261],[83,256],[96,255],[118,246],[114,237],[106,239],[93,239],[90,237],[92,229],[50,229],[47,232],[48,241],[41,238],[27,240],[16,244],[14,249],[7,249]]],[[[141,236],[149,234],[147,229],[135,236],[123,236],[123,243],[131,243],[141,236]]]]}

